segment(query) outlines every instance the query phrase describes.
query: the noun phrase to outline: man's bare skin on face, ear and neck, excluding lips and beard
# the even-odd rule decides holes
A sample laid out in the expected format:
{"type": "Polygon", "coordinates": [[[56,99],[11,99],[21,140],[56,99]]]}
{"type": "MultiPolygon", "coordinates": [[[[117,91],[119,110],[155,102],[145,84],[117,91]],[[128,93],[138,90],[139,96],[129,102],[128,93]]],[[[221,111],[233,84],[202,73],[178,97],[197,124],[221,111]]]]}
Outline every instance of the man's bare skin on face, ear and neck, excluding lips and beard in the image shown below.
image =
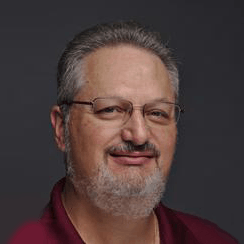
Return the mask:
{"type": "MultiPolygon", "coordinates": [[[[175,101],[164,64],[144,49],[129,45],[101,48],[88,55],[85,64],[87,83],[74,100],[90,101],[96,97],[119,96],[131,101],[134,106],[143,106],[158,98],[175,101]]],[[[51,122],[56,143],[61,151],[65,151],[62,114],[58,106],[52,108],[51,122]]],[[[109,128],[87,107],[74,105],[70,112],[69,132],[74,169],[79,174],[94,175],[94,169],[101,163],[107,164],[113,174],[124,174],[125,177],[128,173],[147,176],[155,167],[162,170],[165,178],[169,174],[176,143],[175,124],[149,127],[141,111],[136,109],[125,125],[109,128]],[[157,160],[151,158],[137,166],[119,164],[106,154],[106,149],[123,141],[132,141],[137,145],[149,141],[160,150],[161,155],[157,160]]],[[[71,221],[87,243],[154,242],[153,215],[128,221],[104,213],[79,193],[69,180],[63,202],[71,221]],[[98,224],[101,221],[102,226],[98,224]]]]}

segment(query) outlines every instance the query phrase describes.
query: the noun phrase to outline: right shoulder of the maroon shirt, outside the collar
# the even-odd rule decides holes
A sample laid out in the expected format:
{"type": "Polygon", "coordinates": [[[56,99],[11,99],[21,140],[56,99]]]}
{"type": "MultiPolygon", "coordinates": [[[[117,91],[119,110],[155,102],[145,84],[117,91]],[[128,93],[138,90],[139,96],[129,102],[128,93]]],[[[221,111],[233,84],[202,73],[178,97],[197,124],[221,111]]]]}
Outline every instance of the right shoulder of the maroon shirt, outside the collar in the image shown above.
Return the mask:
{"type": "Polygon", "coordinates": [[[238,244],[238,241],[206,219],[165,207],[171,211],[201,243],[238,244]]]}

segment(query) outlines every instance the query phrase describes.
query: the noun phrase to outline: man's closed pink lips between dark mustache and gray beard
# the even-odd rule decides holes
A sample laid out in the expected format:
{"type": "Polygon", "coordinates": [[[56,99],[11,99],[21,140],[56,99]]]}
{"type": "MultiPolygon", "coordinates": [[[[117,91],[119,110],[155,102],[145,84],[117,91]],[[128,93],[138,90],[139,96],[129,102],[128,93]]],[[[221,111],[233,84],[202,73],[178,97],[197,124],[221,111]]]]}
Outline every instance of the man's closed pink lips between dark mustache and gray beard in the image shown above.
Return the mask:
{"type": "Polygon", "coordinates": [[[154,155],[151,152],[115,152],[110,156],[113,161],[123,165],[144,165],[148,164],[154,155]]]}

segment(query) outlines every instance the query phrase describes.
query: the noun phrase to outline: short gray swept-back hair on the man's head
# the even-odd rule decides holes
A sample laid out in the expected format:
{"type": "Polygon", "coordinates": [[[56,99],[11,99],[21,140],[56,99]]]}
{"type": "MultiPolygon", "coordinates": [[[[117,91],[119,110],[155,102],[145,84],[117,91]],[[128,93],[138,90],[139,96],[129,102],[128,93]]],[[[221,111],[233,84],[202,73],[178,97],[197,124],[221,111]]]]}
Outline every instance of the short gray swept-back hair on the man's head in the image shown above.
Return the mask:
{"type": "MultiPolygon", "coordinates": [[[[84,85],[82,63],[87,55],[102,47],[121,44],[140,47],[157,55],[168,70],[177,98],[179,90],[178,70],[170,50],[162,43],[160,34],[147,30],[137,22],[121,21],[96,25],[77,34],[67,44],[58,63],[57,103],[62,104],[73,100],[84,85]]],[[[65,123],[68,120],[68,107],[63,105],[61,109],[65,123]]]]}

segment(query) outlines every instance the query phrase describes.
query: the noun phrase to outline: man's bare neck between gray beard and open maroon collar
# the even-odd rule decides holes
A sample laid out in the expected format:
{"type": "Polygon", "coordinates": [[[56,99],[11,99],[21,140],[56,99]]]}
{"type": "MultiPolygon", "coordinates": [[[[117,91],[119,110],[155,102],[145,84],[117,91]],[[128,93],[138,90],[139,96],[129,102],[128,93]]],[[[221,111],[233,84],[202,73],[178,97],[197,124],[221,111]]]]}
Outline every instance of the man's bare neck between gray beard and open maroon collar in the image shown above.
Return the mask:
{"type": "Polygon", "coordinates": [[[153,212],[143,218],[114,216],[94,206],[68,180],[62,199],[72,224],[87,244],[154,244],[156,241],[157,223],[153,212]]]}

